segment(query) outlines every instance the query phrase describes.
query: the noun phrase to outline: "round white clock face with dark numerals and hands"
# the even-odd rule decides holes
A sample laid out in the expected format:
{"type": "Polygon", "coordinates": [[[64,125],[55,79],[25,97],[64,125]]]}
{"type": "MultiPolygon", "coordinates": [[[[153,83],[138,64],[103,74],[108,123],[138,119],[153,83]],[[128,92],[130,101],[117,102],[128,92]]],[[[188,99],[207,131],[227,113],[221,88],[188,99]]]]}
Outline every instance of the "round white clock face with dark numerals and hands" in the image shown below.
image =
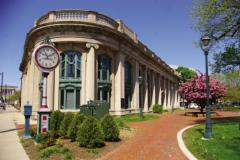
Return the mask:
{"type": "Polygon", "coordinates": [[[59,54],[54,47],[43,45],[36,50],[35,61],[40,68],[51,70],[58,65],[59,54]]]}

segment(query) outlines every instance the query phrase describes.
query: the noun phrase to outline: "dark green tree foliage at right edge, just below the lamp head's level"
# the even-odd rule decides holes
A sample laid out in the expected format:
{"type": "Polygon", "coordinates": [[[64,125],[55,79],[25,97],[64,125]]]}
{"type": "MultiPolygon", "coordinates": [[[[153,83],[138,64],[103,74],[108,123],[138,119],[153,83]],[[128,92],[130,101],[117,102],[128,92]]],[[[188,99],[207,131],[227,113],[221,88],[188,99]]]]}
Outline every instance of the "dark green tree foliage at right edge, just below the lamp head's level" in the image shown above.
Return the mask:
{"type": "Polygon", "coordinates": [[[210,66],[213,73],[240,71],[240,48],[231,45],[226,47],[224,52],[215,53],[210,66]]]}

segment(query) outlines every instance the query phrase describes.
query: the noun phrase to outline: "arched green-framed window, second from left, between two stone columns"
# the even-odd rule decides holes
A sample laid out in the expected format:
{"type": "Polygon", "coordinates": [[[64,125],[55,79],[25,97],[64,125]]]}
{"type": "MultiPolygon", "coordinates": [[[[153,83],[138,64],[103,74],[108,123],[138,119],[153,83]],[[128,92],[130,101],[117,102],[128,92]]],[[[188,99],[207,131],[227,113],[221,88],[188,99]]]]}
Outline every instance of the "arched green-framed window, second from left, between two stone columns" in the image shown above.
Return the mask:
{"type": "Polygon", "coordinates": [[[98,100],[110,102],[111,58],[105,54],[98,56],[98,100]]]}

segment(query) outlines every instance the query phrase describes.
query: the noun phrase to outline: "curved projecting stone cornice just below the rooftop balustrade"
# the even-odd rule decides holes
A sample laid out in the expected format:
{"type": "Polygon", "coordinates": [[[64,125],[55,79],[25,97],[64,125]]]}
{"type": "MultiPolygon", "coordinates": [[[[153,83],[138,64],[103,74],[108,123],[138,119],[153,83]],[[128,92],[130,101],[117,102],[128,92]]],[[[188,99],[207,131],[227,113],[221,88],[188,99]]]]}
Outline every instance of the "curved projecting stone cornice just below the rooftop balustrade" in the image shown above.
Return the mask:
{"type": "MultiPolygon", "coordinates": [[[[50,12],[49,12],[50,13],[50,12]]],[[[48,14],[49,14],[48,13],[48,14]]],[[[89,12],[90,13],[90,12],[89,12]]],[[[96,13],[96,12],[91,12],[91,13],[96,13]]],[[[109,17],[108,17],[109,18],[109,17]]],[[[41,18],[40,18],[41,19],[41,18]]],[[[124,26],[122,21],[118,21],[119,26],[124,26]],[[121,24],[122,23],[122,24],[121,24]]],[[[49,32],[49,29],[52,28],[53,31],[56,30],[57,28],[66,28],[66,31],[74,31],[74,30],[91,30],[91,32],[99,32],[98,34],[100,34],[101,32],[103,32],[104,34],[110,34],[111,37],[113,37],[114,39],[117,39],[117,41],[119,42],[119,44],[125,43],[128,44],[128,46],[126,47],[130,47],[132,49],[130,50],[135,50],[136,52],[147,56],[149,59],[151,59],[155,64],[161,66],[161,68],[163,68],[164,70],[166,70],[166,72],[170,73],[171,75],[174,75],[174,77],[179,78],[178,75],[175,74],[174,70],[172,68],[170,68],[169,65],[167,65],[160,57],[158,57],[154,52],[152,52],[150,49],[148,49],[143,43],[141,43],[139,40],[134,39],[133,37],[130,37],[129,35],[127,35],[126,33],[124,33],[122,30],[124,30],[123,28],[111,28],[107,25],[101,25],[98,23],[92,23],[92,22],[79,22],[79,21],[50,21],[47,23],[43,23],[43,24],[38,24],[37,26],[35,26],[34,28],[32,28],[29,33],[27,34],[26,40],[25,40],[25,45],[24,45],[24,55],[22,57],[22,62],[20,64],[20,70],[23,71],[24,70],[24,66],[25,63],[27,62],[27,52],[29,51],[29,49],[31,49],[31,47],[34,46],[34,36],[36,36],[36,34],[40,33],[40,32],[45,32],[45,34],[48,34],[47,32],[49,32]],[[67,29],[68,27],[72,27],[75,28],[74,30],[69,30],[67,29]],[[79,28],[81,27],[81,28],[79,28]],[[93,31],[94,30],[94,31],[93,31]],[[29,48],[30,47],[30,48],[29,48]]],[[[126,27],[126,25],[125,25],[126,27]]],[[[64,29],[62,29],[62,31],[64,31],[64,29]]],[[[126,30],[125,30],[126,31],[126,30]]],[[[89,33],[91,33],[89,32],[89,33]]],[[[130,32],[129,32],[130,33],[130,32]]],[[[77,34],[77,32],[76,32],[77,34]]],[[[134,34],[133,34],[134,35],[134,34]]],[[[137,36],[135,36],[137,37],[137,36]]],[[[51,37],[50,37],[51,38],[51,37]]],[[[94,37],[93,37],[94,38],[94,37]]],[[[84,43],[84,42],[83,42],[84,43]]],[[[125,46],[125,45],[124,45],[125,46]]]]}

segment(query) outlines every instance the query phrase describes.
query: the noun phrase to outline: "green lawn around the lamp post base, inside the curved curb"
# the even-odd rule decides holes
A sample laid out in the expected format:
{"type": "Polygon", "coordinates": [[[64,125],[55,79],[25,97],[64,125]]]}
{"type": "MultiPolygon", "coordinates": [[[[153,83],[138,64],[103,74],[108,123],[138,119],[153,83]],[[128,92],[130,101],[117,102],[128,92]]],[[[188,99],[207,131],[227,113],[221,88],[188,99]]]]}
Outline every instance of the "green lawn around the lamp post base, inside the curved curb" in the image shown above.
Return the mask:
{"type": "Polygon", "coordinates": [[[240,130],[239,121],[213,124],[213,138],[202,140],[205,125],[188,129],[183,134],[187,148],[199,160],[239,160],[240,130]]]}

